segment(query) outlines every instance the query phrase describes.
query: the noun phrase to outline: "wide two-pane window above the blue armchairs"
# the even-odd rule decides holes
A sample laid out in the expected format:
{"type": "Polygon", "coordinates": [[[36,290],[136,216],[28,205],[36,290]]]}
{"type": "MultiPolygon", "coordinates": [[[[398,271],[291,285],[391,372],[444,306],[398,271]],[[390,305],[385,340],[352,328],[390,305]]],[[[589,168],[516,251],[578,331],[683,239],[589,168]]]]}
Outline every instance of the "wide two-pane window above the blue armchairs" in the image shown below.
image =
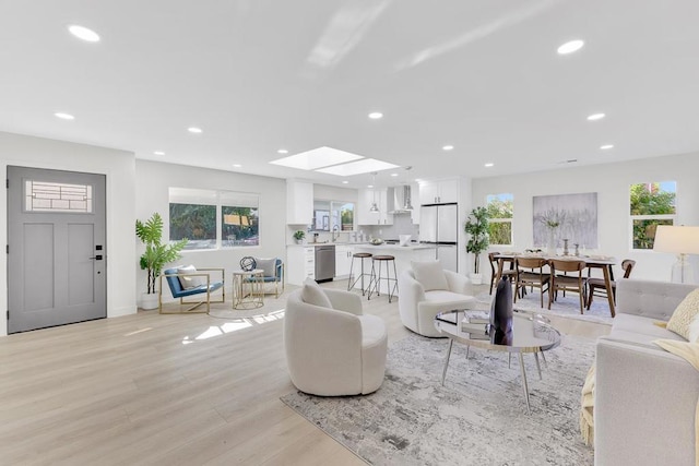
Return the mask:
{"type": "Polygon", "coordinates": [[[259,195],[222,190],[169,189],[170,241],[186,250],[259,246],[259,195]]]}

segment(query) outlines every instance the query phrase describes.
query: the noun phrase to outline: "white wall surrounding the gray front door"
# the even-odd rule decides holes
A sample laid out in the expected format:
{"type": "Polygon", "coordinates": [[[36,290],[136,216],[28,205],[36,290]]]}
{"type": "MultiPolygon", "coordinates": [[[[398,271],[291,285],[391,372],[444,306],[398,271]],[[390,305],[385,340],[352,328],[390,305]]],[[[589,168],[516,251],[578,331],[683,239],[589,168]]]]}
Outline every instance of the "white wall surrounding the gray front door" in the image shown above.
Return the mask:
{"type": "MultiPolygon", "coordinates": [[[[0,132],[0,166],[8,165],[105,175],[107,180],[107,316],[134,313],[134,167],[130,152],[0,132]]],[[[8,193],[0,194],[0,244],[8,242],[8,193]]],[[[0,254],[0,302],[8,302],[8,262],[0,254]]],[[[10,310],[11,311],[11,310],[10,310]]],[[[0,335],[7,335],[0,319],[0,335]]]]}

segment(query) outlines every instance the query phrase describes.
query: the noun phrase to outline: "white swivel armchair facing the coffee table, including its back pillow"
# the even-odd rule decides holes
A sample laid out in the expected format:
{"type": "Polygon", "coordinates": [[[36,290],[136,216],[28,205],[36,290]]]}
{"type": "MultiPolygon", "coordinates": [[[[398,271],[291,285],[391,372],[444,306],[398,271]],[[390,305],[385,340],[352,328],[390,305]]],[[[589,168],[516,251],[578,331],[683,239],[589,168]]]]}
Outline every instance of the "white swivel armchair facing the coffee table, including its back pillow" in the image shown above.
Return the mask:
{"type": "Polygon", "coordinates": [[[473,309],[467,295],[469,278],[441,268],[439,261],[412,262],[399,275],[398,309],[401,322],[424,336],[443,336],[435,328],[435,315],[453,309],[473,309]]]}

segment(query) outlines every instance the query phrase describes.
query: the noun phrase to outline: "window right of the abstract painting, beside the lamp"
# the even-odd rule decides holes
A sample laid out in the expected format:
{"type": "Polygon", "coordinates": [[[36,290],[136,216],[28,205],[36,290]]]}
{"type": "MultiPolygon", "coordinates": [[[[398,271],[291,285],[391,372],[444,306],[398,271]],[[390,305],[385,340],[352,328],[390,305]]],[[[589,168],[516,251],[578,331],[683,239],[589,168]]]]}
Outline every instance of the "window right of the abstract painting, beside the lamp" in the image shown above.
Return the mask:
{"type": "Polygon", "coordinates": [[[675,200],[677,183],[660,181],[631,184],[629,189],[631,211],[632,249],[653,249],[659,225],[673,225],[677,214],[675,200]]]}

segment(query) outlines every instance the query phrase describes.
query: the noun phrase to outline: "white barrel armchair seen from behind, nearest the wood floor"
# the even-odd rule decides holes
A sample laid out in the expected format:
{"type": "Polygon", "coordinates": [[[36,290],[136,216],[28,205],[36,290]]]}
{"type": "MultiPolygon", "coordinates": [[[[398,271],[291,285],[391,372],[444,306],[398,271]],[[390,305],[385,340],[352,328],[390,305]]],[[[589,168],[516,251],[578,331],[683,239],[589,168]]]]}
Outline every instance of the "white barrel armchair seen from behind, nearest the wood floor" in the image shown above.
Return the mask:
{"type": "Polygon", "coordinates": [[[383,383],[386,324],[363,314],[359,296],[313,285],[293,291],[286,302],[284,346],[292,382],[320,396],[375,392],[383,383]],[[317,289],[306,289],[313,285],[317,289]]]}

